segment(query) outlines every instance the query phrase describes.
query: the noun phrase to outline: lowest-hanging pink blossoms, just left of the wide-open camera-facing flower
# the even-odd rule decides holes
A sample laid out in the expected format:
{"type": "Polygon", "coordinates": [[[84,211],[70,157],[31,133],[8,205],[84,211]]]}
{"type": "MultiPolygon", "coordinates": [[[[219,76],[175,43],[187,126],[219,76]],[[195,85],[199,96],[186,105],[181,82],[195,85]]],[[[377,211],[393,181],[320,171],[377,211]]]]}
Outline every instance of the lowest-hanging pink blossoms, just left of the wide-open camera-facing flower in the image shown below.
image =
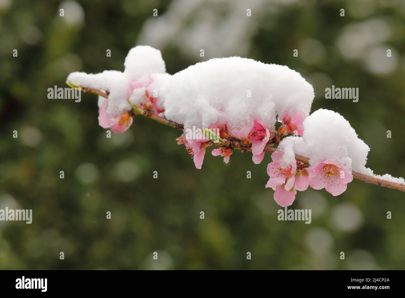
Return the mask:
{"type": "Polygon", "coordinates": [[[281,207],[290,206],[294,202],[298,191],[305,191],[309,184],[309,174],[312,167],[303,167],[304,163],[296,161],[288,167],[280,167],[280,160],[283,157],[281,152],[273,152],[273,160],[267,165],[267,174],[270,176],[266,188],[272,188],[274,200],[281,207]]]}

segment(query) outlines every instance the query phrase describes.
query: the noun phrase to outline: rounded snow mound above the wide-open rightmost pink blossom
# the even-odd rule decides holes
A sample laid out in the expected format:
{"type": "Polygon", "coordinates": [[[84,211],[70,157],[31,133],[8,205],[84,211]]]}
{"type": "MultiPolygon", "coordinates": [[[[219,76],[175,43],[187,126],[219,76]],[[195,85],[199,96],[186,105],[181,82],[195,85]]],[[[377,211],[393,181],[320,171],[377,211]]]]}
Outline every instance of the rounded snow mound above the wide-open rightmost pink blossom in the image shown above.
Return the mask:
{"type": "Polygon", "coordinates": [[[340,114],[327,109],[313,112],[304,120],[303,139],[311,165],[326,159],[356,172],[364,171],[370,148],[340,114]]]}

